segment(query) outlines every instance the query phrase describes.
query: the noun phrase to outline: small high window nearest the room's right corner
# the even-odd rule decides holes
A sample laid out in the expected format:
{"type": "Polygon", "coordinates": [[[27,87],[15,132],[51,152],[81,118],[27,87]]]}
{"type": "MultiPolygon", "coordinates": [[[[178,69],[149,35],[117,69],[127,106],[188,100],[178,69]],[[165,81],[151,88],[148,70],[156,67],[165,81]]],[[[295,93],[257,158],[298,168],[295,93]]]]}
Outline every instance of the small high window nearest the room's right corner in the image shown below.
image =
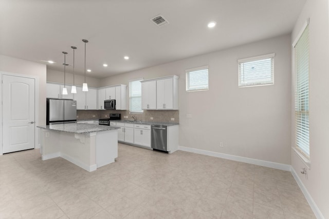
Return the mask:
{"type": "Polygon", "coordinates": [[[275,53],[239,59],[239,87],[274,84],[275,53]]]}

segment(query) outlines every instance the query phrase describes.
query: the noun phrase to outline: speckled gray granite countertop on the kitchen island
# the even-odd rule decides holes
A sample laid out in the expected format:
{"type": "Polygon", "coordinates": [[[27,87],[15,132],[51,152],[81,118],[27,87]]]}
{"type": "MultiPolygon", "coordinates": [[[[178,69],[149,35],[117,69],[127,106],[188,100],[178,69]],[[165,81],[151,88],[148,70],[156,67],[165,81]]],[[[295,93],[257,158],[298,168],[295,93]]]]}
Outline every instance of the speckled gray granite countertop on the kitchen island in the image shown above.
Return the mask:
{"type": "Polygon", "coordinates": [[[71,133],[90,133],[98,131],[108,131],[119,129],[114,126],[103,126],[103,125],[94,125],[94,124],[85,124],[85,123],[61,123],[61,124],[50,124],[47,126],[36,126],[42,129],[49,129],[54,131],[64,131],[71,133]]]}

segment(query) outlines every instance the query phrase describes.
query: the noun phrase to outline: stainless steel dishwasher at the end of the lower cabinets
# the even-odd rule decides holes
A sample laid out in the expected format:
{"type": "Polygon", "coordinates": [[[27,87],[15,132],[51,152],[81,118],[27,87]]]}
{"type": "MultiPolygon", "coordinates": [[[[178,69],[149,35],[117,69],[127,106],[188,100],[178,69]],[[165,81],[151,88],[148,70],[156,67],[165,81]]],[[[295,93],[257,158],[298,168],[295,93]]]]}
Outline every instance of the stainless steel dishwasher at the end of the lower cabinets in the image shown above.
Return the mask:
{"type": "Polygon", "coordinates": [[[167,152],[167,126],[151,126],[151,147],[155,150],[167,152]]]}

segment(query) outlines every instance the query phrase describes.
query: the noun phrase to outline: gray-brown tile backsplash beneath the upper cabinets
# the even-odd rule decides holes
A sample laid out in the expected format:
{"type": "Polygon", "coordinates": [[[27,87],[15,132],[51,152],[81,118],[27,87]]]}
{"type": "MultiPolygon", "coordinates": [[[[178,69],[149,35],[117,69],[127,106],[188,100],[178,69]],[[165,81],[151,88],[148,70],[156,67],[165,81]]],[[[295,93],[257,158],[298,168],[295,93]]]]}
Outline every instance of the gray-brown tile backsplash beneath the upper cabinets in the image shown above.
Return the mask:
{"type": "Polygon", "coordinates": [[[130,113],[129,110],[77,110],[77,120],[108,118],[111,113],[121,113],[121,120],[133,120],[134,115],[138,121],[179,123],[179,110],[144,110],[143,113],[130,113]]]}

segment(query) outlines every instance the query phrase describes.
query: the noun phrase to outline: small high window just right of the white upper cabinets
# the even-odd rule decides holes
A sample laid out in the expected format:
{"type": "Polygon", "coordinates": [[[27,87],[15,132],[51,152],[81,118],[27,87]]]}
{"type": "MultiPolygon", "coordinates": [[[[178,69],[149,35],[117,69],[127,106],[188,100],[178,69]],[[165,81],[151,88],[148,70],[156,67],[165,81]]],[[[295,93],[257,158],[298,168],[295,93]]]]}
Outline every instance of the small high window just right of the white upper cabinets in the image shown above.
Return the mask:
{"type": "Polygon", "coordinates": [[[208,90],[208,66],[186,70],[186,91],[208,90]]]}

